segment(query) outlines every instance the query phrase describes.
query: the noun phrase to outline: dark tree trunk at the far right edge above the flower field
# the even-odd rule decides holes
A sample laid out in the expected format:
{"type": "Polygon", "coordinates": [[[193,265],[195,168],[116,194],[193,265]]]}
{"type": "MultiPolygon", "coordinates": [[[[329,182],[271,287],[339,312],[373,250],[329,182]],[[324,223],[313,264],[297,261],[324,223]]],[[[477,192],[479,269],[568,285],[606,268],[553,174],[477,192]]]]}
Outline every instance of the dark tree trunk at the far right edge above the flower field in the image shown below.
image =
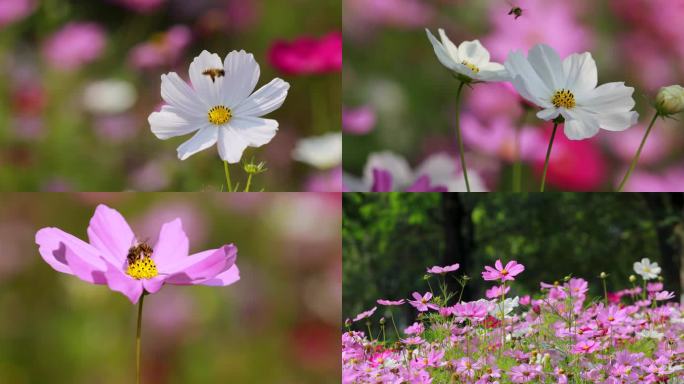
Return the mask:
{"type": "Polygon", "coordinates": [[[658,235],[665,286],[682,292],[681,260],[684,252],[684,195],[644,193],[658,235]]]}

